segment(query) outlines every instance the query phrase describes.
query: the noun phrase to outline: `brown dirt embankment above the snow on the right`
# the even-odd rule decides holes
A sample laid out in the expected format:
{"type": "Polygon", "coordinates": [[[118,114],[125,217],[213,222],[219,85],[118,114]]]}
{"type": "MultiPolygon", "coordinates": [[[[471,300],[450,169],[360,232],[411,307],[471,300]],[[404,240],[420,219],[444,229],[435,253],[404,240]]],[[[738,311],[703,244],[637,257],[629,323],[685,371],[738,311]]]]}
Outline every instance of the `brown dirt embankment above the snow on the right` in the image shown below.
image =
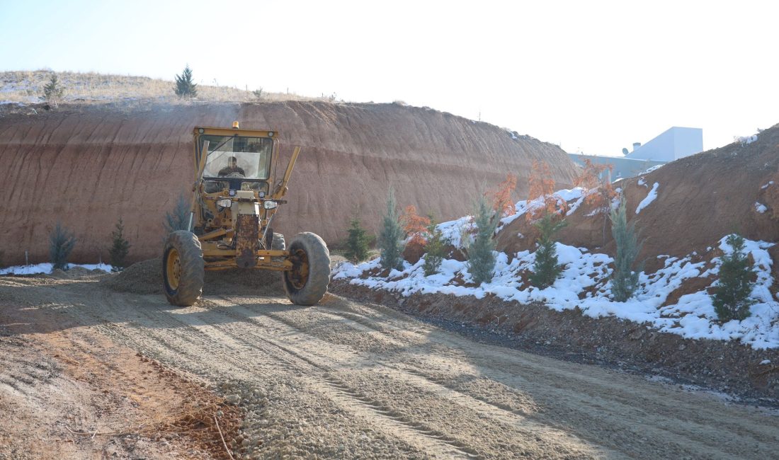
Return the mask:
{"type": "MultiPolygon", "coordinates": [[[[676,160],[615,184],[627,198],[627,215],[646,242],[640,258],[657,269],[657,255],[683,257],[717,247],[738,232],[750,240],[779,237],[779,125],[760,133],[755,142],[728,146],[676,160]],[[636,214],[636,207],[657,183],[657,198],[636,214]],[[765,205],[764,212],[757,205],[765,205]]],[[[602,213],[582,205],[566,217],[558,240],[613,255],[614,243],[602,213]]],[[[499,251],[513,254],[533,247],[534,230],[516,219],[499,235],[499,251]],[[517,237],[517,233],[523,237],[517,237]]],[[[773,253],[772,255],[779,255],[773,253]]]]}

